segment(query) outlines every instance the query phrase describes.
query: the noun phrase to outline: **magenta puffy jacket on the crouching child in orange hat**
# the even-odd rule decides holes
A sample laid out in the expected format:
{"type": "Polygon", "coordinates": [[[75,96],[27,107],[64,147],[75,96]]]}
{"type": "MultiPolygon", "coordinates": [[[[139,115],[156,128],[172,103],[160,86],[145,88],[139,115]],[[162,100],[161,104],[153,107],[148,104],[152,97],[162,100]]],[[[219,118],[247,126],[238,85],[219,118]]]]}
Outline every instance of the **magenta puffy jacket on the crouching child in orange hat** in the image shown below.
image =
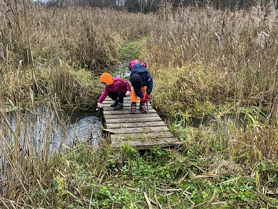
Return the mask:
{"type": "Polygon", "coordinates": [[[99,98],[99,103],[102,103],[104,99],[107,97],[108,93],[112,91],[113,93],[118,93],[119,91],[124,91],[125,93],[127,91],[131,91],[130,85],[127,81],[124,81],[121,78],[112,78],[113,83],[109,86],[105,87],[104,92],[101,94],[99,98]]]}

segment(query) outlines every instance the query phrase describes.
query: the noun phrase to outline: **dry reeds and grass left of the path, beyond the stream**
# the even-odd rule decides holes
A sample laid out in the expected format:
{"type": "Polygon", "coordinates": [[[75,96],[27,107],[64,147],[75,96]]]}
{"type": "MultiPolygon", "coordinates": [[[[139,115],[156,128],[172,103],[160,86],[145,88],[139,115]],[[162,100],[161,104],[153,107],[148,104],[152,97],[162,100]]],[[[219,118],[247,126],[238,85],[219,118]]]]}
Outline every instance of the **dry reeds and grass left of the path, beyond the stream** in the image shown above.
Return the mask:
{"type": "Polygon", "coordinates": [[[152,19],[139,13],[70,6],[12,8],[3,15],[0,59],[6,76],[3,87],[10,87],[10,99],[14,101],[15,77],[22,76],[17,86],[23,91],[31,85],[37,94],[56,93],[60,102],[81,106],[99,96],[98,81],[91,82],[99,69],[117,62],[124,41],[145,36],[152,19]]]}

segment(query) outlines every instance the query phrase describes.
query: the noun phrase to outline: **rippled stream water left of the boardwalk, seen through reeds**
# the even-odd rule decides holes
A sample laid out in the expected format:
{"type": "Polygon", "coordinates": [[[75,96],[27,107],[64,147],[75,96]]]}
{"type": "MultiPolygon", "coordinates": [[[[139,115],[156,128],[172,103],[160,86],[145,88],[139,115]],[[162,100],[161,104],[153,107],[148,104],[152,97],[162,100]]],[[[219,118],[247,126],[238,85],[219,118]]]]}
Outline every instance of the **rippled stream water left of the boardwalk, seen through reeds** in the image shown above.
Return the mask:
{"type": "MultiPolygon", "coordinates": [[[[101,111],[85,111],[61,107],[57,110],[58,117],[52,107],[38,105],[36,112],[25,111],[16,120],[16,112],[6,115],[13,129],[20,130],[18,137],[21,142],[33,143],[36,140],[35,150],[37,153],[50,143],[49,152],[53,149],[65,150],[65,146],[73,146],[76,141],[87,142],[97,145],[99,129],[102,126],[101,111]],[[18,121],[18,122],[16,122],[18,121]],[[19,126],[19,127],[18,127],[19,126]]],[[[11,141],[14,141],[11,134],[11,141]]],[[[23,143],[22,143],[23,144],[23,143]]]]}

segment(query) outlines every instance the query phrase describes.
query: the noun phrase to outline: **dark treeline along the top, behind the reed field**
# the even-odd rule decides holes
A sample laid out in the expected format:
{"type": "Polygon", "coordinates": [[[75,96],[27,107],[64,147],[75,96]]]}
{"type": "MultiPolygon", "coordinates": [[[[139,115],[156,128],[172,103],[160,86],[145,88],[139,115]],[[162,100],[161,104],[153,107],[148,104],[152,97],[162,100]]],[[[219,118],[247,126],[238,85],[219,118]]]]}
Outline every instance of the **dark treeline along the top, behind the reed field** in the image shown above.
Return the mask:
{"type": "MultiPolygon", "coordinates": [[[[128,12],[156,12],[159,7],[165,6],[166,3],[171,3],[174,8],[184,6],[197,7],[216,7],[217,9],[228,8],[230,10],[251,7],[254,0],[37,0],[40,5],[48,7],[66,7],[69,4],[82,7],[100,7],[113,8],[118,11],[128,12]]],[[[277,9],[277,0],[271,0],[274,3],[274,8],[277,9]]],[[[269,1],[261,0],[262,4],[267,4],[269,1]]],[[[35,2],[36,3],[36,2],[35,2]]]]}

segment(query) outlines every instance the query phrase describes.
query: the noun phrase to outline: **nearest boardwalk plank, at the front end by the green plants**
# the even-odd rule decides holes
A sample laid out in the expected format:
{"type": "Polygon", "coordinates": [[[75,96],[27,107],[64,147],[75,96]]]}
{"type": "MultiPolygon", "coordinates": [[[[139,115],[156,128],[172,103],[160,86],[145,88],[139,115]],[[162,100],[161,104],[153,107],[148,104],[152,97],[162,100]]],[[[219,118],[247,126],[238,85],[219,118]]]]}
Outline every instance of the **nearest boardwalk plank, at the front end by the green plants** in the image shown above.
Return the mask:
{"type": "Polygon", "coordinates": [[[180,140],[177,138],[162,138],[160,140],[153,141],[142,141],[142,140],[117,140],[111,141],[112,148],[119,148],[120,146],[124,146],[128,144],[128,146],[134,146],[136,150],[145,150],[151,149],[155,145],[160,145],[162,147],[180,144],[180,140]]]}

